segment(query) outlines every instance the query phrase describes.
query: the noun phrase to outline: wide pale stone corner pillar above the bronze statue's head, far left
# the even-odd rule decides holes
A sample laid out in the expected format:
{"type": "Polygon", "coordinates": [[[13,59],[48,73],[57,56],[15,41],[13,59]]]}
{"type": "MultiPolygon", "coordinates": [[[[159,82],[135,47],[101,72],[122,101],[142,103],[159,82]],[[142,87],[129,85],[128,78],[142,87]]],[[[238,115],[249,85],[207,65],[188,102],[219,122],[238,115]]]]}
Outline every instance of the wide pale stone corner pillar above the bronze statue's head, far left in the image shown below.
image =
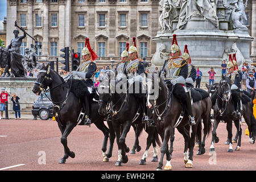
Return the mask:
{"type": "MultiPolygon", "coordinates": [[[[18,20],[17,5],[18,5],[17,1],[7,1],[6,46],[9,46],[11,43],[11,39],[14,38],[13,31],[16,29],[16,27],[14,27],[14,23],[15,23],[15,20],[18,20]]],[[[17,21],[17,24],[19,24],[18,21],[17,21]]]]}

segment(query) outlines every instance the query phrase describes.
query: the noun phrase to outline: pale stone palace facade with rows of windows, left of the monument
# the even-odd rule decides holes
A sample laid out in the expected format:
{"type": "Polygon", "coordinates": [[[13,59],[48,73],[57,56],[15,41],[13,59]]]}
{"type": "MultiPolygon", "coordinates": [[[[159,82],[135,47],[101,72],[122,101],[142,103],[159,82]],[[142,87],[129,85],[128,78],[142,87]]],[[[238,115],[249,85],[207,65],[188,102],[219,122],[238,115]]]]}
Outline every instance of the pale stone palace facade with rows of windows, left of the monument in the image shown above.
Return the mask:
{"type": "MultiPolygon", "coordinates": [[[[14,22],[42,44],[42,55],[58,56],[61,48],[81,51],[85,38],[97,55],[119,57],[126,42],[137,38],[139,56],[155,53],[151,41],[159,30],[159,0],[8,0],[7,44],[14,22]]],[[[24,39],[30,47],[32,39],[24,39]]]]}

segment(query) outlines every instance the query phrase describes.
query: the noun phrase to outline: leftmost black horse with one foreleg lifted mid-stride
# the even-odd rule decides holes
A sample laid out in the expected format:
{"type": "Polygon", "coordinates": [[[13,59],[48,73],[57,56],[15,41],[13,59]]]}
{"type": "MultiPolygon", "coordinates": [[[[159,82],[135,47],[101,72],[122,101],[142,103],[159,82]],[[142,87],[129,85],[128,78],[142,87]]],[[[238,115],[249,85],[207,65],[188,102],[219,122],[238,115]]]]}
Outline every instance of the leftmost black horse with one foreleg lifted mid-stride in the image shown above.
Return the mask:
{"type": "MultiPolygon", "coordinates": [[[[57,72],[49,68],[49,64],[46,66],[43,64],[32,90],[32,92],[38,95],[49,87],[51,100],[53,102],[53,114],[55,115],[61,131],[62,136],[60,141],[64,146],[64,157],[59,161],[61,164],[64,164],[69,156],[75,158],[75,152],[70,151],[68,148],[67,137],[77,125],[77,119],[82,107],[79,98],[71,92],[72,82],[73,81],[65,82],[57,72]]],[[[99,115],[97,112],[98,102],[92,104],[92,110],[96,111],[92,112],[92,123],[94,123],[104,134],[102,152],[105,156],[109,138],[109,129],[104,124],[105,116],[99,115]]]]}

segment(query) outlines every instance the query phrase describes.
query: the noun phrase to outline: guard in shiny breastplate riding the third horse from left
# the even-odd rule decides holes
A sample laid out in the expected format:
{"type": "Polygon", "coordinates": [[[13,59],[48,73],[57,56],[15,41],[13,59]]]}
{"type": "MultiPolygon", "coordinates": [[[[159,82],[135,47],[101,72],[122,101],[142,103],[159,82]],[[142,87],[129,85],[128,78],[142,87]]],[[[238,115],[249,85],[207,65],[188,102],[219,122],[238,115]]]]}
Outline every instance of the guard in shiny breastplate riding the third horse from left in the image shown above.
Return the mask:
{"type": "Polygon", "coordinates": [[[181,57],[176,35],[173,35],[169,58],[164,61],[161,76],[164,77],[168,88],[173,90],[174,96],[181,101],[183,110],[187,111],[189,125],[196,124],[193,117],[191,96],[186,87],[185,79],[188,77],[187,61],[181,57]],[[172,89],[172,87],[174,88],[172,89]]]}

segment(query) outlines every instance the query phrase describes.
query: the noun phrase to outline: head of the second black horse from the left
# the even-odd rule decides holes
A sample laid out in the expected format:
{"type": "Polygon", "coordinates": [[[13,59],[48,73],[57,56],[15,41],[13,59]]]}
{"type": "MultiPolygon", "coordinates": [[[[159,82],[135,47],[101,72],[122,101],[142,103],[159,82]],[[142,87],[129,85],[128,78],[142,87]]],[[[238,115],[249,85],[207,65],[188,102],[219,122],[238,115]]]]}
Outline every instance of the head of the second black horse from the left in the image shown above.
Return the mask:
{"type": "Polygon", "coordinates": [[[98,86],[98,93],[99,93],[99,107],[98,107],[98,113],[100,115],[106,115],[108,112],[108,104],[110,101],[110,96],[112,94],[112,77],[114,75],[114,72],[111,69],[108,69],[105,72],[105,77],[100,82],[100,85],[98,86]]]}

